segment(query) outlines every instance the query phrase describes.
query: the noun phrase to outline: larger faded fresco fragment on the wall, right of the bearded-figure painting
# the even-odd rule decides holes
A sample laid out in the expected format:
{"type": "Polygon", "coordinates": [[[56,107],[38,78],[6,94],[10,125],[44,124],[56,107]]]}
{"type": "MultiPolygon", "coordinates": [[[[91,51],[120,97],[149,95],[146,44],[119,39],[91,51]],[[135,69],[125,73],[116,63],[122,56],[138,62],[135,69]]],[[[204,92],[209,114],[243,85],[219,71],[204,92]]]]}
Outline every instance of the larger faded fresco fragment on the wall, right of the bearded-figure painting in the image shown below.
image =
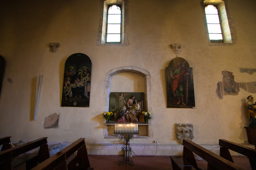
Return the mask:
{"type": "Polygon", "coordinates": [[[246,92],[256,93],[256,82],[235,82],[233,72],[222,71],[222,82],[217,83],[216,94],[220,99],[226,95],[238,95],[240,88],[246,92]]]}

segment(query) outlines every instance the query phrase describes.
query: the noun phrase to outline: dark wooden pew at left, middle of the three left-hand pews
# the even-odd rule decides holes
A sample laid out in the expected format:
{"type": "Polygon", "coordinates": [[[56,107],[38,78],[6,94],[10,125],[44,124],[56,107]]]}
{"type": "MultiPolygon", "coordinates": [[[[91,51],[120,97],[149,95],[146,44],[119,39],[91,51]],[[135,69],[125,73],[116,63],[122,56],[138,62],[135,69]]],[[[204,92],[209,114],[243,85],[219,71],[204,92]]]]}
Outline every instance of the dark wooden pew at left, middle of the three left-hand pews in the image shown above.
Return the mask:
{"type": "Polygon", "coordinates": [[[25,162],[26,169],[31,169],[49,157],[47,137],[42,137],[0,152],[0,169],[12,170],[25,162]],[[38,147],[40,147],[38,154],[26,153],[38,147]]]}

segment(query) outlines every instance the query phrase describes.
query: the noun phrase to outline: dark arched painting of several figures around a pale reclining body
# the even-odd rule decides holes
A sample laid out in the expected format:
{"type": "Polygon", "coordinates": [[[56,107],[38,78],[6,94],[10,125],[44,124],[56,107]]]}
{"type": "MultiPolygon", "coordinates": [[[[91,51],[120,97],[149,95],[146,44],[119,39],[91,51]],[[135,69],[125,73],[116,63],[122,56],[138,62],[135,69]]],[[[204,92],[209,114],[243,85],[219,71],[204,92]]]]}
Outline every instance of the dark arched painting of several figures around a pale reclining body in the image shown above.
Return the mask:
{"type": "Polygon", "coordinates": [[[82,53],[70,55],[65,63],[61,106],[89,107],[92,62],[82,53]]]}

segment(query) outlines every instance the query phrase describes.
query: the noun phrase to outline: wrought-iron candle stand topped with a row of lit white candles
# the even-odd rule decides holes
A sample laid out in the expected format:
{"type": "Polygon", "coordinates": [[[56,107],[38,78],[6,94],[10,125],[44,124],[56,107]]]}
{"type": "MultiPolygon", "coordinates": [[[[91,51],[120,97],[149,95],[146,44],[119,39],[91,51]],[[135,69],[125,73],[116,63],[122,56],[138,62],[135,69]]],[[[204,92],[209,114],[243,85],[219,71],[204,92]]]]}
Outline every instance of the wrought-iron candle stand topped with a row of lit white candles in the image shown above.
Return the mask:
{"type": "Polygon", "coordinates": [[[130,153],[132,148],[130,147],[130,139],[133,139],[133,135],[138,135],[138,123],[118,123],[115,124],[115,135],[120,135],[120,139],[124,139],[124,145],[122,147],[123,159],[119,161],[119,165],[124,162],[128,162],[129,165],[133,165],[133,161],[130,160],[130,153]]]}

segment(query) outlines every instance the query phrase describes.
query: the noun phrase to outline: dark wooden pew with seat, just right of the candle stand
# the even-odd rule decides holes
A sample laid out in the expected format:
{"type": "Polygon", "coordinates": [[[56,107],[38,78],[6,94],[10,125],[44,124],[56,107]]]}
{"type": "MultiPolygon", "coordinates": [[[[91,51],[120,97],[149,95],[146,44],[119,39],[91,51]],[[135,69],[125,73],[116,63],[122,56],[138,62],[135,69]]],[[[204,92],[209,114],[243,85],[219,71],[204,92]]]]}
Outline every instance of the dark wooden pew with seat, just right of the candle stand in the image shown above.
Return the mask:
{"type": "Polygon", "coordinates": [[[183,155],[181,158],[178,156],[170,156],[172,160],[172,168],[174,170],[200,169],[196,164],[193,152],[208,162],[208,170],[243,170],[243,168],[237,166],[236,164],[230,162],[229,160],[222,158],[221,156],[197,145],[196,143],[188,139],[183,139],[182,145],[183,155]]]}

